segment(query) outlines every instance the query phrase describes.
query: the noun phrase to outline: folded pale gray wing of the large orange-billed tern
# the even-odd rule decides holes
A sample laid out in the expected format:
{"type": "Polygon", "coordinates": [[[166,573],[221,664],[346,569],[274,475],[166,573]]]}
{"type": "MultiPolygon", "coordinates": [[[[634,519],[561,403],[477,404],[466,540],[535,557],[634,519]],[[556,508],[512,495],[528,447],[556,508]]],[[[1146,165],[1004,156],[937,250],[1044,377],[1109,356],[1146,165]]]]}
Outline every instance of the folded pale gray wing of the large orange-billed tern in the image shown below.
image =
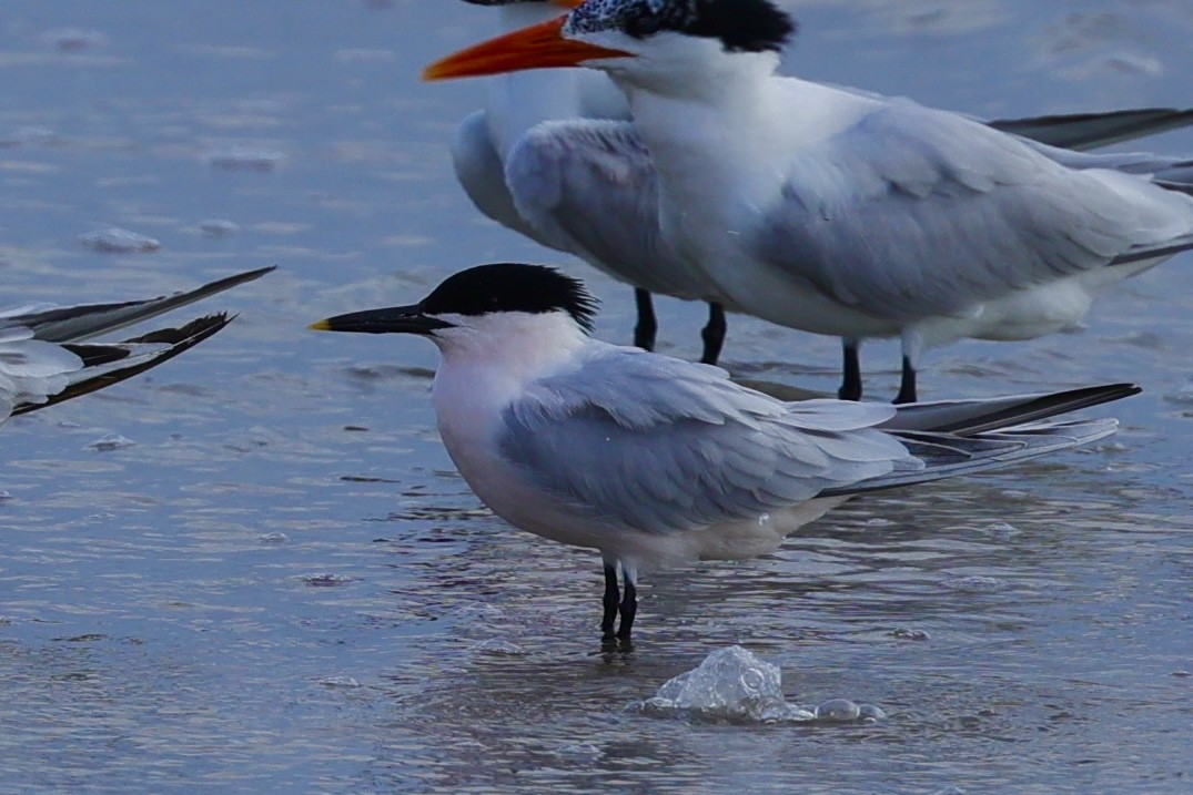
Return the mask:
{"type": "Polygon", "coordinates": [[[913,322],[1162,247],[1193,200],[1020,138],[892,101],[805,148],[750,246],[837,302],[913,322]]]}

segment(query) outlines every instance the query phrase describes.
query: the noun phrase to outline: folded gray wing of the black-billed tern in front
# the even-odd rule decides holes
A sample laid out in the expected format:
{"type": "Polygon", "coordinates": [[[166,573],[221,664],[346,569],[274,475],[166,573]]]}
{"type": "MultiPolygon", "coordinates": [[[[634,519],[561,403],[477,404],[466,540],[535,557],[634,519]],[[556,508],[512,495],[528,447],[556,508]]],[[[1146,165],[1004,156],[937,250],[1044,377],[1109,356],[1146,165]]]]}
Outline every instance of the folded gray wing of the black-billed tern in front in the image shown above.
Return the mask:
{"type": "MultiPolygon", "coordinates": [[[[724,371],[608,347],[534,383],[499,443],[536,486],[648,533],[758,517],[908,459],[890,406],[784,404],[724,371]]],[[[914,461],[908,461],[914,467],[914,461]]]]}

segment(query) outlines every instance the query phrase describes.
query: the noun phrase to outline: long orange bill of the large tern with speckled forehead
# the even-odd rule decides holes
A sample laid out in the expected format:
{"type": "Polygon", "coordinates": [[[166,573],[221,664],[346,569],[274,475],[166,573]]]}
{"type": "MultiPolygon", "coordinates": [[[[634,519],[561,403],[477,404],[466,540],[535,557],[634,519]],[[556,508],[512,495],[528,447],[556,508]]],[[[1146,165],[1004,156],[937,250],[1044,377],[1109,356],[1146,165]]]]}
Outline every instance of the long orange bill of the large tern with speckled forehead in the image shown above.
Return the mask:
{"type": "Polygon", "coordinates": [[[567,20],[567,17],[550,19],[449,55],[424,69],[422,79],[449,80],[523,69],[577,67],[594,58],[620,58],[631,55],[564,38],[563,25],[567,20]]]}

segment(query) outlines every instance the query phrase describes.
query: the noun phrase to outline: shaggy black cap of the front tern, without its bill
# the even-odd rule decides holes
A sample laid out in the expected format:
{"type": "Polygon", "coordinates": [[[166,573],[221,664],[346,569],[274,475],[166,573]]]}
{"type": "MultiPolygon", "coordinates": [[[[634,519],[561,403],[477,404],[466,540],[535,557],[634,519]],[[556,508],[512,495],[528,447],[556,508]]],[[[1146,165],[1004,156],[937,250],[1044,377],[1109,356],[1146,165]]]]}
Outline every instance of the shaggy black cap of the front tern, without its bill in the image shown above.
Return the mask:
{"type": "Polygon", "coordinates": [[[449,277],[421,304],[425,315],[565,311],[585,330],[593,330],[593,298],[579,279],[542,265],[480,265],[449,277]]]}

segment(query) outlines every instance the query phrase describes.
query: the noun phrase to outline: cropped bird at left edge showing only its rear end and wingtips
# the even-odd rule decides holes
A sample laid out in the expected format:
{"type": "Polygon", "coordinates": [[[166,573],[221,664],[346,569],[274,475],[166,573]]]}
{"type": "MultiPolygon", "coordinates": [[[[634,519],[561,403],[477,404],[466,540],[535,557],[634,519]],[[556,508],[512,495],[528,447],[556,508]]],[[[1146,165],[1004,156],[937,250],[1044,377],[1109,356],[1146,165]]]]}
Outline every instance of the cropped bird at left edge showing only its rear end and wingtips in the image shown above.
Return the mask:
{"type": "Polygon", "coordinates": [[[88,342],[92,337],[252,281],[272,269],[259,268],[146,300],[0,310],[0,423],[156,367],[220,331],[231,316],[208,315],[119,342],[88,342]]]}

